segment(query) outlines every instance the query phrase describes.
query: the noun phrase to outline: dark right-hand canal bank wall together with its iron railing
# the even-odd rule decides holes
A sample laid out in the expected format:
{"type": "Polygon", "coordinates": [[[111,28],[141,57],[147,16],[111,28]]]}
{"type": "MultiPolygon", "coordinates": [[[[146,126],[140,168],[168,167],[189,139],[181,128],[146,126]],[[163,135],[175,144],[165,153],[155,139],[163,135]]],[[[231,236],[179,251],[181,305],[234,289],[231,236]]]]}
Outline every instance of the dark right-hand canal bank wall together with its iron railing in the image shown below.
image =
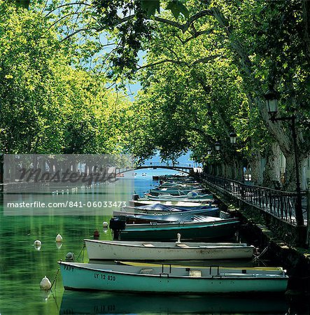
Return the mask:
{"type": "Polygon", "coordinates": [[[268,257],[288,269],[288,296],[293,299],[296,295],[309,296],[309,193],[302,194],[304,226],[297,227],[296,193],[250,186],[204,173],[195,174],[195,177],[225,204],[234,207],[241,221],[242,234],[253,245],[264,248],[263,258],[268,257]]]}

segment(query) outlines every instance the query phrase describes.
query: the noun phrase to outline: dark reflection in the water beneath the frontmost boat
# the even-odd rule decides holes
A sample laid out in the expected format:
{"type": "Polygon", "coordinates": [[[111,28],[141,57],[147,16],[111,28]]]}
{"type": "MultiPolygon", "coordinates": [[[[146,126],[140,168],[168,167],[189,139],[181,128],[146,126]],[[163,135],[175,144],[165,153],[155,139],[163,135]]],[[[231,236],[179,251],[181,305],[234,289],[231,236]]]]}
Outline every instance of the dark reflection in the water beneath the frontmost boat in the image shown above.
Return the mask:
{"type": "Polygon", "coordinates": [[[65,290],[59,314],[286,314],[283,297],[134,295],[65,290]]]}

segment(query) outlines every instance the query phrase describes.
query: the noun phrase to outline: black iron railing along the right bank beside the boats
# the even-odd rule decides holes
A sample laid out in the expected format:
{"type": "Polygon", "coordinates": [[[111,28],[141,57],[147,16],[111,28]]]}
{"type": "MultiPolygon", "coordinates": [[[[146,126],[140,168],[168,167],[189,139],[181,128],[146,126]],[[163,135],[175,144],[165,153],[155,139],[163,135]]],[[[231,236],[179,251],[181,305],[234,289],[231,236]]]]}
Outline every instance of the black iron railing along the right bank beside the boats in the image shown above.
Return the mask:
{"type": "MultiPolygon", "coordinates": [[[[220,186],[228,193],[255,207],[269,212],[291,225],[296,225],[295,209],[297,205],[297,193],[275,190],[272,188],[250,186],[246,183],[224,179],[217,176],[202,173],[200,177],[209,183],[220,186]]],[[[302,193],[306,195],[306,193],[302,193]]],[[[304,211],[306,220],[307,211],[304,211]]]]}

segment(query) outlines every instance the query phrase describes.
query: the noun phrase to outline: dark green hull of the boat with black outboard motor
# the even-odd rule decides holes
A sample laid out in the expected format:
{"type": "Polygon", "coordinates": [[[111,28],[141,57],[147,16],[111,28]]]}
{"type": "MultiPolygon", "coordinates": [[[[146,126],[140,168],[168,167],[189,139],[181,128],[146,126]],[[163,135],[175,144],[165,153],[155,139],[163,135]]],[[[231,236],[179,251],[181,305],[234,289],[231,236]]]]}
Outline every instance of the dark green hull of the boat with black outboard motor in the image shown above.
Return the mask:
{"type": "Polygon", "coordinates": [[[182,239],[220,239],[232,237],[237,230],[239,220],[227,219],[211,222],[185,222],[166,224],[132,224],[121,230],[121,240],[175,240],[180,233],[182,239]]]}

